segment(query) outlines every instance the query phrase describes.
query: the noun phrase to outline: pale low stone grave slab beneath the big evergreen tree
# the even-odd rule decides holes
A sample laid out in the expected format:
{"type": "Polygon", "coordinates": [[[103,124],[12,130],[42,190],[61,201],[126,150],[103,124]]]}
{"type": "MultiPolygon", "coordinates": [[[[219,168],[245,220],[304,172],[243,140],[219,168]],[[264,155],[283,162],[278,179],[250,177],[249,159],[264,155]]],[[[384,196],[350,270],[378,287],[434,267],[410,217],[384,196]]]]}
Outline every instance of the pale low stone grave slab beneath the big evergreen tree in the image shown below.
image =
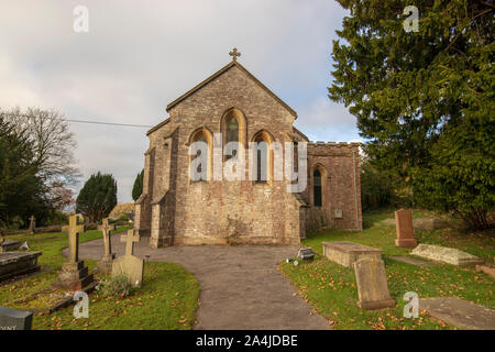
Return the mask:
{"type": "Polygon", "coordinates": [[[483,263],[482,258],[470,253],[432,244],[419,244],[410,254],[457,266],[473,266],[483,263]]]}

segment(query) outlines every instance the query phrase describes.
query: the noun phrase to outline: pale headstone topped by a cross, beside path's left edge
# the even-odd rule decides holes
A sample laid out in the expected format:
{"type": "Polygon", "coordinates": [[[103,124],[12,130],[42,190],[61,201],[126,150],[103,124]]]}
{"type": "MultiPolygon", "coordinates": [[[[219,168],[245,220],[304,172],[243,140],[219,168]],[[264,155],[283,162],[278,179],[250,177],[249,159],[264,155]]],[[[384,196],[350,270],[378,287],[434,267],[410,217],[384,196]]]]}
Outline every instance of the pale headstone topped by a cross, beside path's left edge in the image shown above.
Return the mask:
{"type": "Polygon", "coordinates": [[[140,235],[134,234],[134,230],[128,231],[128,235],[120,238],[125,242],[125,255],[119,256],[113,261],[112,275],[127,274],[132,286],[141,286],[144,276],[144,261],[134,256],[134,243],[140,241],[140,235]]]}

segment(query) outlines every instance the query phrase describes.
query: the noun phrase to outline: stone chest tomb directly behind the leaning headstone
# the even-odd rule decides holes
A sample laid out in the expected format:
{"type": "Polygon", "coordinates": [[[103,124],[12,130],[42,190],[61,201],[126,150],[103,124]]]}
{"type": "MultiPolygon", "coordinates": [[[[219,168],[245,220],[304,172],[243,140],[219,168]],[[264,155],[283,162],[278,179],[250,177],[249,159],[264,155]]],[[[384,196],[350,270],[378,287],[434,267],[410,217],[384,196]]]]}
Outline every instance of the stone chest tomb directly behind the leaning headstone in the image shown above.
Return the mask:
{"type": "Polygon", "coordinates": [[[330,261],[349,268],[354,267],[354,263],[361,258],[382,258],[382,251],[354,242],[323,242],[323,255],[330,261]]]}

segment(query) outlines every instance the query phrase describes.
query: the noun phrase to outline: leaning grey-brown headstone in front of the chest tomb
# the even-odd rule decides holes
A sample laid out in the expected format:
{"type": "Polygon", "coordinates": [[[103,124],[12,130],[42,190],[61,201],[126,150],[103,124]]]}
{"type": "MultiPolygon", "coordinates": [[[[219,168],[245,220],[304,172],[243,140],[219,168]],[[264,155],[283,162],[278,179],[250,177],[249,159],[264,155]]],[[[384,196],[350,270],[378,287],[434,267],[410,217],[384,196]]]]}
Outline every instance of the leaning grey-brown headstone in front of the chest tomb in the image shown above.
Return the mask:
{"type": "Polygon", "coordinates": [[[385,264],[381,258],[360,258],[354,263],[354,271],[360,308],[374,310],[395,307],[395,300],[388,292],[385,264]]]}

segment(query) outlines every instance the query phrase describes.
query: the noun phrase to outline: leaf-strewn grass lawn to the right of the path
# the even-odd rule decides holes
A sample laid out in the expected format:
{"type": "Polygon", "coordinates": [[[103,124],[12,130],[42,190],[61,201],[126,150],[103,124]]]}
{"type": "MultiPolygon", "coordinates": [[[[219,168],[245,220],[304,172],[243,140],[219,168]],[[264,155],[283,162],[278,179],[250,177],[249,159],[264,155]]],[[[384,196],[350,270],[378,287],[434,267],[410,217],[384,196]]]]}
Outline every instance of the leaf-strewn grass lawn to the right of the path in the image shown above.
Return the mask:
{"type": "MultiPolygon", "coordinates": [[[[415,217],[421,213],[414,213],[415,217]]],[[[415,292],[420,298],[452,296],[495,309],[493,299],[495,282],[474,268],[453,265],[419,267],[387,258],[387,255],[408,255],[410,250],[395,246],[395,226],[380,223],[393,218],[393,212],[374,212],[364,216],[364,230],[350,232],[323,230],[304,241],[322,254],[323,241],[350,241],[383,250],[388,288],[396,308],[369,311],[358,308],[358,289],[354,271],[327,258],[299,266],[282,263],[279,270],[298,288],[299,294],[316,311],[329,319],[334,329],[455,329],[437,321],[421,311],[417,319],[403,317],[404,294],[415,292]]],[[[458,233],[453,229],[416,232],[421,243],[458,248],[493,263],[495,242],[493,233],[458,233]]]]}

